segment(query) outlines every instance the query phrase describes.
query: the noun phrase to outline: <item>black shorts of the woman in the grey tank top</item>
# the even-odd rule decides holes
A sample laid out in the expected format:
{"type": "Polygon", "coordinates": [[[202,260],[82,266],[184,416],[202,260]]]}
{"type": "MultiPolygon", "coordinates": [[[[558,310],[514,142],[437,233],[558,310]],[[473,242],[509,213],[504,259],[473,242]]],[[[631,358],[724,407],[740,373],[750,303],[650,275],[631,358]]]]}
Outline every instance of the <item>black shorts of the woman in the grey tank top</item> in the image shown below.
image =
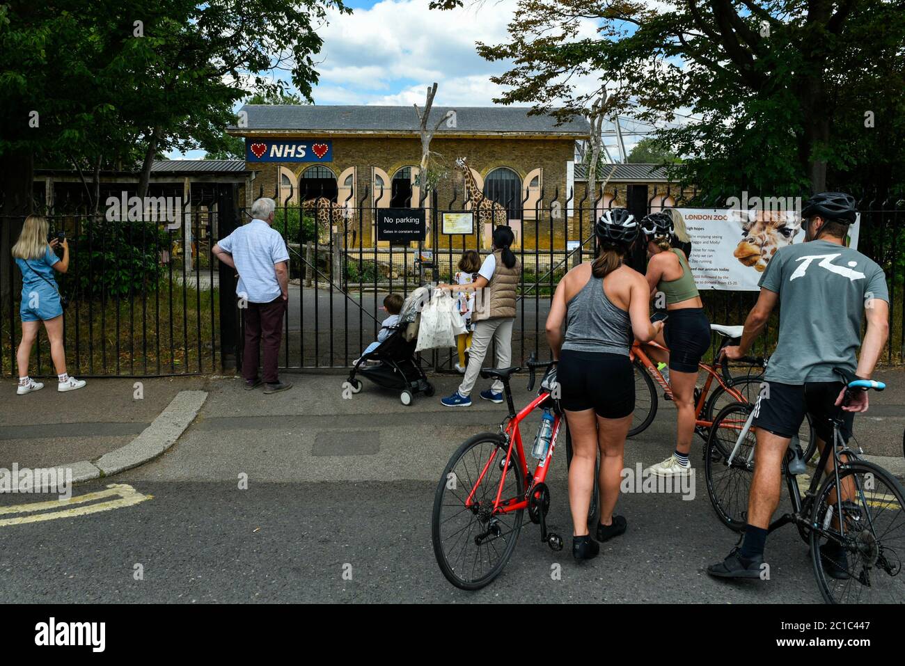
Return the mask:
{"type": "Polygon", "coordinates": [[[563,349],[557,366],[559,404],[569,412],[593,409],[605,419],[634,411],[634,371],[624,354],[563,349]]]}

